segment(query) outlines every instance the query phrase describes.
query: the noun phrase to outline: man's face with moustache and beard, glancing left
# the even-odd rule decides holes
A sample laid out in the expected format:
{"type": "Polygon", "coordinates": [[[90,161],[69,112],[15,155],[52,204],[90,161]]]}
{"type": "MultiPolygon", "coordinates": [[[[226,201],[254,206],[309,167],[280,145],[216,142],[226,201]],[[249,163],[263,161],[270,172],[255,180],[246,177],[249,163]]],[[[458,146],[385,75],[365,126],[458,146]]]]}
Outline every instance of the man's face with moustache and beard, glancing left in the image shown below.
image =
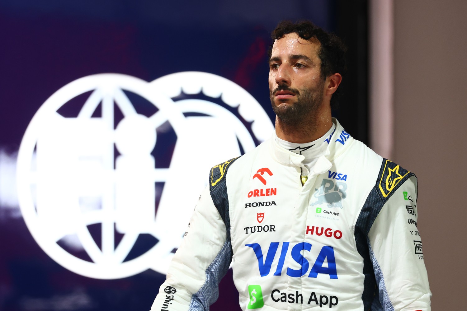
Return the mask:
{"type": "Polygon", "coordinates": [[[296,33],[274,42],[269,95],[277,117],[287,124],[311,117],[323,103],[325,80],[320,74],[319,48],[319,41],[304,40],[296,33]]]}

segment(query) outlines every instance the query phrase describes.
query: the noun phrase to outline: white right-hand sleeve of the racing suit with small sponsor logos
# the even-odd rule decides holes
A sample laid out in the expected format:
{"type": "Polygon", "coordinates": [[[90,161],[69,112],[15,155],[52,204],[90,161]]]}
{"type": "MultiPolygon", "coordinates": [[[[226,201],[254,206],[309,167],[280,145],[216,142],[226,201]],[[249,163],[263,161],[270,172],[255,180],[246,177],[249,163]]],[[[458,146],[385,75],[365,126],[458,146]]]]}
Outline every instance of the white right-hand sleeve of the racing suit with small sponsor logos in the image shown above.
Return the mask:
{"type": "Polygon", "coordinates": [[[413,175],[386,201],[368,233],[385,311],[431,311],[417,214],[417,178],[413,175]]]}

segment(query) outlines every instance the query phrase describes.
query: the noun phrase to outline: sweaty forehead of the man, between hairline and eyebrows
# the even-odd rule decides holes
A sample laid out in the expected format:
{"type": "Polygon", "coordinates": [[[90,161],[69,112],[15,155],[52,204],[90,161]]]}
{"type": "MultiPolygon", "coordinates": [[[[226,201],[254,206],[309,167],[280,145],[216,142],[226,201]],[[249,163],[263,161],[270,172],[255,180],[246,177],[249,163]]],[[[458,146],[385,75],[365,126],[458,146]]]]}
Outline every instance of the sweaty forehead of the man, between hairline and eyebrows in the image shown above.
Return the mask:
{"type": "Polygon", "coordinates": [[[310,59],[318,58],[320,43],[316,39],[305,40],[298,36],[297,33],[284,35],[281,39],[274,41],[271,50],[271,58],[273,57],[289,57],[291,55],[305,55],[310,59]]]}

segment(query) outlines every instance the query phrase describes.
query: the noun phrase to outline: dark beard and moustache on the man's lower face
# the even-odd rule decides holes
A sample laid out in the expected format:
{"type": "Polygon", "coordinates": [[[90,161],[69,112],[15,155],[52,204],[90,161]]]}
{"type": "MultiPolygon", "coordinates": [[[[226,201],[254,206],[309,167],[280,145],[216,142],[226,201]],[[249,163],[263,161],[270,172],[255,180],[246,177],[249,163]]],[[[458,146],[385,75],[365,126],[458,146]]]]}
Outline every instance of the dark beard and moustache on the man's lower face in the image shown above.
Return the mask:
{"type": "MultiPolygon", "coordinates": [[[[292,89],[285,84],[281,84],[275,90],[269,91],[272,110],[285,127],[288,127],[290,130],[302,129],[304,131],[312,130],[315,127],[314,120],[317,117],[318,108],[323,103],[324,83],[324,80],[319,79],[316,88],[300,90],[292,89]],[[293,92],[297,97],[297,101],[292,104],[276,105],[274,94],[280,90],[289,90],[293,92]]],[[[281,101],[281,103],[285,102],[286,100],[281,101]]]]}

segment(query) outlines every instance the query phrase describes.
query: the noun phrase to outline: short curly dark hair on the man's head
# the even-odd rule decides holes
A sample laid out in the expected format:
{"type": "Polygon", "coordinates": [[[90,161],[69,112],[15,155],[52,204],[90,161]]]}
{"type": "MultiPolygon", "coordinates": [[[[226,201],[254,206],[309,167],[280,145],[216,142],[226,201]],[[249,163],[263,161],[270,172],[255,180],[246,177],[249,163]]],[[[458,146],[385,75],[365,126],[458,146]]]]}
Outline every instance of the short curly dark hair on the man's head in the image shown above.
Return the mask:
{"type": "MultiPolygon", "coordinates": [[[[319,41],[320,48],[318,51],[318,57],[321,61],[320,72],[323,79],[326,79],[334,73],[340,73],[342,76],[346,73],[346,45],[337,35],[325,32],[322,28],[319,28],[311,21],[297,21],[295,24],[291,21],[281,21],[277,25],[276,29],[271,33],[273,41],[271,45],[269,45],[268,49],[269,59],[271,58],[274,41],[282,39],[284,35],[290,33],[297,33],[297,35],[304,40],[314,38],[319,41]]],[[[340,97],[339,88],[333,94],[333,97],[331,97],[332,110],[336,110],[338,107],[338,97],[340,97]]]]}

